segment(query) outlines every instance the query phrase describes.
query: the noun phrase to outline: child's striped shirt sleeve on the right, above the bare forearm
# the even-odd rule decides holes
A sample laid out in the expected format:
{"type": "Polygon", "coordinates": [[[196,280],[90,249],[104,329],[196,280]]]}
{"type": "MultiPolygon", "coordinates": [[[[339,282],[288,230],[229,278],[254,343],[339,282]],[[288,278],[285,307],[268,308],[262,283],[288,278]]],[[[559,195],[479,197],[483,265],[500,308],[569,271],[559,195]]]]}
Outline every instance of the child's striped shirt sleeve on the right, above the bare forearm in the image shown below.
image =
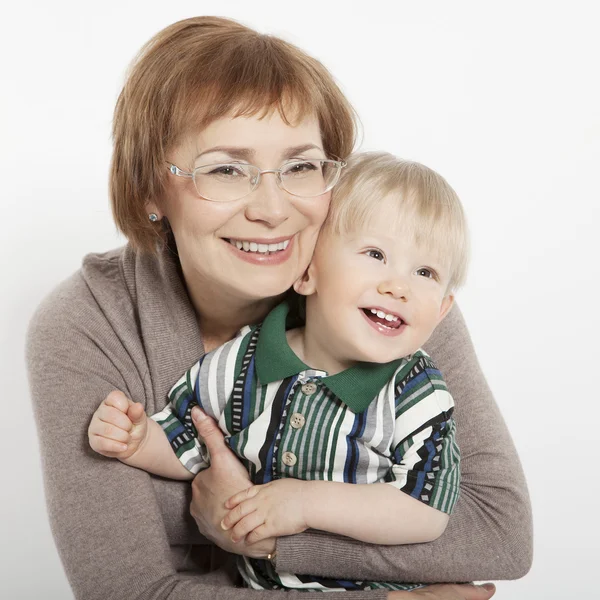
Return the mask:
{"type": "Polygon", "coordinates": [[[448,514],[460,485],[453,410],[442,374],[424,352],[415,353],[396,376],[394,464],[385,481],[448,514]]]}

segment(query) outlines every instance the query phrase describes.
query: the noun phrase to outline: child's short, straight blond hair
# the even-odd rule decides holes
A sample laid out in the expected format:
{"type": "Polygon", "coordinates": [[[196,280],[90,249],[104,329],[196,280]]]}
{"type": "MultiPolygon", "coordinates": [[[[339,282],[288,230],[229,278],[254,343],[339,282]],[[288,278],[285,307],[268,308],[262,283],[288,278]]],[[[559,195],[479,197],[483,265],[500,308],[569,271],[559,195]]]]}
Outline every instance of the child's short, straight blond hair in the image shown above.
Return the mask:
{"type": "Polygon", "coordinates": [[[420,163],[387,152],[352,155],[333,190],[325,227],[338,234],[353,232],[390,201],[403,233],[412,234],[416,244],[434,249],[450,265],[448,290],[460,287],[469,261],[463,208],[448,182],[420,163]]]}

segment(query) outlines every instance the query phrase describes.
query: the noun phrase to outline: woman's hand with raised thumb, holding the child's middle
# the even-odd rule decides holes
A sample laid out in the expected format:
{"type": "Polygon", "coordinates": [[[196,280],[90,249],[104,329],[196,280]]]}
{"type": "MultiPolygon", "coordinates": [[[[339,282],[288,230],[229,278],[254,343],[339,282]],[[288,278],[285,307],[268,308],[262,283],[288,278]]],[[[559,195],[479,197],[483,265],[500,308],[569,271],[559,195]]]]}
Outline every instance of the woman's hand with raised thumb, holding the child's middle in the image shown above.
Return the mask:
{"type": "Polygon", "coordinates": [[[265,558],[275,552],[275,538],[256,544],[234,543],[230,533],[221,526],[227,514],[225,502],[238,492],[252,486],[250,477],[237,456],[225,445],[217,424],[199,408],[192,410],[192,420],[210,454],[210,468],[201,471],[192,481],[190,512],[200,533],[223,550],[251,558],[265,558]]]}

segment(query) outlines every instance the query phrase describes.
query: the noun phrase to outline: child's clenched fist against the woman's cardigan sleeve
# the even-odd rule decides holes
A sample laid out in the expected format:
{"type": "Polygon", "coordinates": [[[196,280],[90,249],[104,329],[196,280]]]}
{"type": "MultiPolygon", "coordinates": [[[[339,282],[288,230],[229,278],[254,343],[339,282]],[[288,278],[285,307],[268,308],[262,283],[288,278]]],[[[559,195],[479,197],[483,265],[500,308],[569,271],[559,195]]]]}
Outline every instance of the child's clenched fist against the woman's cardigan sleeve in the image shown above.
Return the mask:
{"type": "Polygon", "coordinates": [[[148,417],[144,407],[116,391],[100,404],[88,428],[92,450],[119,460],[135,454],[147,434],[148,417]]]}

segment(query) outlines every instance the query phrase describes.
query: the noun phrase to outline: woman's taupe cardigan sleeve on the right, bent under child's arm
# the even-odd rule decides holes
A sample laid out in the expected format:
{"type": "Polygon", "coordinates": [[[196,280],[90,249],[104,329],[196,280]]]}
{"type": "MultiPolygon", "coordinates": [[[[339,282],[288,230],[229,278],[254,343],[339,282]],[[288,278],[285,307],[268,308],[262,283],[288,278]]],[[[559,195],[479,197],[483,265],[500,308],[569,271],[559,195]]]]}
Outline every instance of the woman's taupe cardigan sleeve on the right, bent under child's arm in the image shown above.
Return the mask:
{"type": "Polygon", "coordinates": [[[373,581],[516,579],[532,560],[532,518],[515,446],[454,307],[425,346],[455,402],[460,499],[444,534],[427,544],[365,545],[309,531],[280,538],[277,569],[373,581]]]}

